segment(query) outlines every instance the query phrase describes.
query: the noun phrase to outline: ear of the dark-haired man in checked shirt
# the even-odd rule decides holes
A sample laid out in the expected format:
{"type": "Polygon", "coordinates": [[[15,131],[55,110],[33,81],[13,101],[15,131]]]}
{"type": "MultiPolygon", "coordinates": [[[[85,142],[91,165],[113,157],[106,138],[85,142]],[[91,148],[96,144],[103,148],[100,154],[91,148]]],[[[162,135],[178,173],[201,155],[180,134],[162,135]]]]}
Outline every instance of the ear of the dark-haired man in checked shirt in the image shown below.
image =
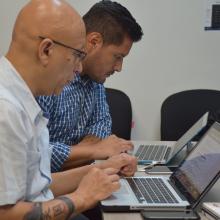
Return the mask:
{"type": "Polygon", "coordinates": [[[102,35],[98,32],[91,32],[87,34],[87,50],[91,51],[96,48],[101,48],[103,46],[102,35]]]}

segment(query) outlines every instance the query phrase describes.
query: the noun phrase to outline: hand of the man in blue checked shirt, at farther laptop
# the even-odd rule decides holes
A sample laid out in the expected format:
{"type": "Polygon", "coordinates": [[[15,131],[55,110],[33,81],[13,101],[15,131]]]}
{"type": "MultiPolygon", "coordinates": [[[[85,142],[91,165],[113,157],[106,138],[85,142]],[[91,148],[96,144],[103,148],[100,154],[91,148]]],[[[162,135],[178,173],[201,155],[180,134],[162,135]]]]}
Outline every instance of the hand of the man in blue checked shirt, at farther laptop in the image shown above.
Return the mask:
{"type": "Polygon", "coordinates": [[[131,141],[111,135],[91,145],[95,159],[106,159],[108,157],[127,152],[133,149],[131,141]]]}

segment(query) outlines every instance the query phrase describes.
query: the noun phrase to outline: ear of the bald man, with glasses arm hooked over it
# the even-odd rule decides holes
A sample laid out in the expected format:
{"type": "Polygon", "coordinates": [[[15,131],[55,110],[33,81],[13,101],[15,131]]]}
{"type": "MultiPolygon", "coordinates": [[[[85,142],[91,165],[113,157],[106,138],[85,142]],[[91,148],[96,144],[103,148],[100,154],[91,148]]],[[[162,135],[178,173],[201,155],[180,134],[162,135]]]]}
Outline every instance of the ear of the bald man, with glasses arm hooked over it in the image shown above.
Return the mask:
{"type": "Polygon", "coordinates": [[[48,38],[41,41],[38,47],[38,56],[43,66],[46,66],[48,64],[49,57],[53,52],[53,46],[53,41],[48,38]]]}

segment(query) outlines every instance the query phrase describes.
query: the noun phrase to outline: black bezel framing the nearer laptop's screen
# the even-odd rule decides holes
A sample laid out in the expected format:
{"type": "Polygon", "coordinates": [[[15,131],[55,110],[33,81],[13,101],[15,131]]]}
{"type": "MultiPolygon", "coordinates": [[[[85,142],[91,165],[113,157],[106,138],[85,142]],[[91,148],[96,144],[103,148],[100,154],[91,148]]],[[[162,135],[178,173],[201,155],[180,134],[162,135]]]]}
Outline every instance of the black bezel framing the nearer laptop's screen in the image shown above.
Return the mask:
{"type": "MultiPolygon", "coordinates": [[[[215,122],[209,129],[208,131],[204,134],[204,136],[200,139],[200,141],[196,144],[196,146],[192,149],[192,151],[189,153],[189,155],[191,155],[193,153],[193,151],[196,149],[197,145],[200,144],[200,142],[205,138],[205,136],[208,134],[208,132],[210,131],[211,128],[214,128],[216,130],[218,130],[218,132],[220,132],[220,124],[218,122],[215,122]]],[[[189,156],[188,155],[188,156],[189,156]]],[[[188,157],[187,156],[187,157],[188,157]]],[[[186,158],[187,158],[186,157],[186,158]]],[[[186,158],[181,162],[180,166],[182,166],[182,164],[185,162],[186,158]]],[[[184,187],[184,185],[181,184],[181,182],[175,177],[175,173],[178,172],[178,170],[180,168],[177,168],[173,174],[170,176],[170,180],[172,182],[172,184],[175,185],[175,187],[178,188],[178,190],[181,192],[181,194],[184,195],[184,197],[188,200],[188,202],[190,203],[192,208],[195,208],[199,202],[201,201],[201,199],[206,195],[206,193],[211,189],[211,187],[215,184],[215,182],[219,179],[220,177],[220,171],[215,175],[215,177],[212,179],[212,181],[208,184],[208,186],[203,190],[203,192],[200,194],[200,196],[197,199],[194,199],[189,193],[187,193],[187,190],[185,190],[186,188],[184,187]]]]}

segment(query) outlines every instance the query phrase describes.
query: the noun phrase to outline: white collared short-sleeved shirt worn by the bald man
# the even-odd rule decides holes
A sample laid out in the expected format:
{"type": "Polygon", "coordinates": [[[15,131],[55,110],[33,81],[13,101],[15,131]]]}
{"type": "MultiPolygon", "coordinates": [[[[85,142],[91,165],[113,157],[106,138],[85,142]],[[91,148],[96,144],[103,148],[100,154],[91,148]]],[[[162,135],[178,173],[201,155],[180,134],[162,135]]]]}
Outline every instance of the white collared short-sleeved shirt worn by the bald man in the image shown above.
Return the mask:
{"type": "Polygon", "coordinates": [[[48,120],[12,64],[0,58],[0,205],[53,198],[48,120]]]}

